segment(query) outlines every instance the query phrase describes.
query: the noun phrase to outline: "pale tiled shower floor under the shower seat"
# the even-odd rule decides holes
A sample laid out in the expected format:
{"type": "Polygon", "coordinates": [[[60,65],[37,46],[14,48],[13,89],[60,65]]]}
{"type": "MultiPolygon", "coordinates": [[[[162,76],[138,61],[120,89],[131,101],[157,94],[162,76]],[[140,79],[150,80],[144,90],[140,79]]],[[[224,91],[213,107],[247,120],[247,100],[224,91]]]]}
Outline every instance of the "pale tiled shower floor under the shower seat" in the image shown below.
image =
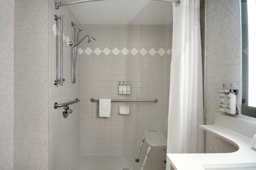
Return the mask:
{"type": "MultiPolygon", "coordinates": [[[[140,170],[144,157],[135,162],[135,157],[119,156],[80,156],[72,170],[140,170]]],[[[145,170],[165,170],[163,156],[150,156],[147,159],[145,170]]]]}

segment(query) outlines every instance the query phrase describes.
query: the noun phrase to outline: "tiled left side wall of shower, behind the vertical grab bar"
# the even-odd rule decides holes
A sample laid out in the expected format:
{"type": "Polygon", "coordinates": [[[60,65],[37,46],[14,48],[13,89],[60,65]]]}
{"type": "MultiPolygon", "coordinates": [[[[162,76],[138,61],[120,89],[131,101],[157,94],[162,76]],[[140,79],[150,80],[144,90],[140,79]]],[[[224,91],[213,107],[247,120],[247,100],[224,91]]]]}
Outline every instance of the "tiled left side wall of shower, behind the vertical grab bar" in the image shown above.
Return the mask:
{"type": "Polygon", "coordinates": [[[50,4],[50,169],[69,170],[78,158],[78,104],[70,105],[73,112],[64,118],[62,115],[63,107],[56,110],[53,104],[67,103],[78,98],[78,81],[71,83],[70,74],[70,46],[69,40],[74,41],[74,27],[71,27],[71,21],[77,23],[76,18],[68,7],[62,7],[59,10],[54,9],[54,3],[50,4]],[[60,20],[55,21],[53,15],[63,15],[63,86],[55,86],[56,74],[59,79],[59,59],[60,59],[60,20]]]}

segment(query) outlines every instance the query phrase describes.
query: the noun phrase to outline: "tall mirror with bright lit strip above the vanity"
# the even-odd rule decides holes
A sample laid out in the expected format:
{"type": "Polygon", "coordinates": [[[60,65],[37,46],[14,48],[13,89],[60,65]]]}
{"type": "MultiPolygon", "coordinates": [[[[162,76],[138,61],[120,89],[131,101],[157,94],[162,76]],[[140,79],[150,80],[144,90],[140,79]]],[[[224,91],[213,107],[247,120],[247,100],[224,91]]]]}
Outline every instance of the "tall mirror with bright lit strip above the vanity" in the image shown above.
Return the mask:
{"type": "Polygon", "coordinates": [[[241,0],[243,115],[256,118],[256,1],[241,0]]]}

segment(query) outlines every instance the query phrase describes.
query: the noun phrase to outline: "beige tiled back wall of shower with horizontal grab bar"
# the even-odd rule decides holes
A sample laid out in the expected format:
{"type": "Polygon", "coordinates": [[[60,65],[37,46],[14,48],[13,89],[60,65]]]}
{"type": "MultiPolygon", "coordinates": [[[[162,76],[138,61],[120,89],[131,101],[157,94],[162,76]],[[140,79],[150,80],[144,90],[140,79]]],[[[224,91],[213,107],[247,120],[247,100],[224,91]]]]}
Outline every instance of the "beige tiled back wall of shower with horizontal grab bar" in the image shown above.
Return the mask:
{"type": "MultiPolygon", "coordinates": [[[[97,40],[80,45],[85,51],[78,67],[80,155],[135,156],[145,129],[159,129],[166,135],[172,26],[82,27],[81,35],[91,34],[97,40]],[[130,81],[132,94],[118,95],[118,81],[130,81]],[[98,103],[91,103],[91,98],[157,98],[159,102],[112,102],[111,117],[100,118],[98,103]],[[119,106],[130,106],[130,114],[118,114],[119,106]]],[[[142,155],[146,149],[144,145],[142,155]]],[[[154,149],[151,155],[163,151],[154,149]]]]}

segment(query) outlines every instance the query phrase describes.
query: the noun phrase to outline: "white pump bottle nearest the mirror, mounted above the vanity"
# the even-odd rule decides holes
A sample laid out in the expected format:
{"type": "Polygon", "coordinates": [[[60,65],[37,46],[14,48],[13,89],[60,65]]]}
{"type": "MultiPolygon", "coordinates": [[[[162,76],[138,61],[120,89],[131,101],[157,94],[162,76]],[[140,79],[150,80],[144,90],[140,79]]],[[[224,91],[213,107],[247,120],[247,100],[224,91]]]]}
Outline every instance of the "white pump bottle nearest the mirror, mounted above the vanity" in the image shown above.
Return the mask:
{"type": "Polygon", "coordinates": [[[234,94],[233,84],[230,84],[230,90],[227,94],[226,112],[236,114],[237,110],[237,95],[234,94]]]}

